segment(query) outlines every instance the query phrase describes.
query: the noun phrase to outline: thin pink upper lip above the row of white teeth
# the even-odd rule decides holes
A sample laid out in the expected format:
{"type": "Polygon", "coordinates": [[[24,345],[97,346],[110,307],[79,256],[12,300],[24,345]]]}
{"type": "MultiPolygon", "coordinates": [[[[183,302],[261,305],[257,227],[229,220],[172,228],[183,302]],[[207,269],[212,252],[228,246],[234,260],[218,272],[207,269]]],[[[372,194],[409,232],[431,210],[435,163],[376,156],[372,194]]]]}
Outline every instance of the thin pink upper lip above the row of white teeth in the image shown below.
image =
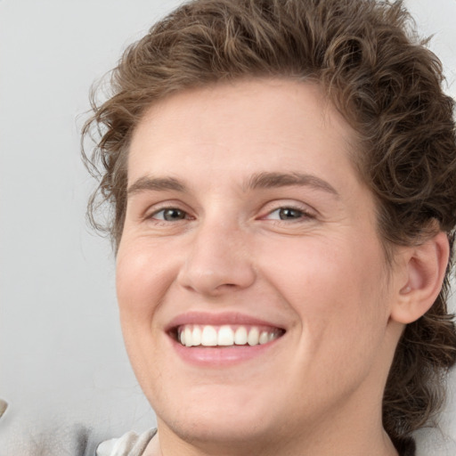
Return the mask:
{"type": "Polygon", "coordinates": [[[278,328],[280,330],[284,330],[283,327],[273,322],[267,322],[263,319],[256,318],[247,314],[240,314],[238,312],[208,313],[196,311],[177,315],[171,322],[169,322],[166,330],[174,330],[175,328],[185,324],[200,324],[213,326],[221,326],[225,324],[270,326],[271,328],[278,328]]]}

